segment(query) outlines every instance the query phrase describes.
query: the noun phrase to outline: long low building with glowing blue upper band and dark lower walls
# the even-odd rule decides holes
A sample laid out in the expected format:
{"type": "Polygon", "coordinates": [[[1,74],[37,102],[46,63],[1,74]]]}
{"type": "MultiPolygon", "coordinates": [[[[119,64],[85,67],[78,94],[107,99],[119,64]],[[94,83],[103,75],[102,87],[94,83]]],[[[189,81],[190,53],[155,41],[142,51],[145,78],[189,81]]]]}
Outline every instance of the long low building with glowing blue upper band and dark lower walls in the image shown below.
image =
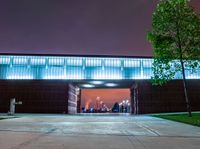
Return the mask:
{"type": "MultiPolygon", "coordinates": [[[[0,54],[0,112],[7,112],[9,99],[15,97],[23,102],[17,112],[76,113],[81,88],[106,87],[130,88],[135,114],[184,111],[181,74],[164,87],[153,87],[152,62],[139,57],[0,54]],[[170,99],[162,101],[162,96],[170,99]]],[[[195,96],[195,110],[200,110],[200,69],[185,72],[190,88],[195,87],[189,92],[195,96]]]]}

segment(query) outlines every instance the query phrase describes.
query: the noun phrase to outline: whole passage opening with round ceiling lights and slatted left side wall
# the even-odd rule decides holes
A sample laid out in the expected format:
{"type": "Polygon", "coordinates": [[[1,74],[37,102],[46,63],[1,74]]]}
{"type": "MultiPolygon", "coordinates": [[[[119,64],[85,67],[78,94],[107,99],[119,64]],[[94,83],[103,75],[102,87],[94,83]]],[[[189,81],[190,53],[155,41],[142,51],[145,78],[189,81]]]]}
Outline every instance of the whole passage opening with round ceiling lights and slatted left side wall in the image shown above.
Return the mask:
{"type": "Polygon", "coordinates": [[[68,113],[133,113],[132,81],[73,82],[68,90],[68,113]]]}

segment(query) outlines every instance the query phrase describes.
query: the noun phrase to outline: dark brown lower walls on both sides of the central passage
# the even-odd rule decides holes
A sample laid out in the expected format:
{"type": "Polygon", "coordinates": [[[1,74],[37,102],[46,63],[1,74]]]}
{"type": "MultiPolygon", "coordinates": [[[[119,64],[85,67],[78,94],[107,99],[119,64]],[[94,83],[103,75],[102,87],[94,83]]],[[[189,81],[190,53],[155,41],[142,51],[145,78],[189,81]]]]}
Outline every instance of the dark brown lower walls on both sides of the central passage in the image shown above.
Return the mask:
{"type": "MultiPolygon", "coordinates": [[[[192,110],[200,111],[200,80],[188,80],[192,110]]],[[[8,112],[10,98],[22,101],[17,113],[76,113],[80,94],[61,80],[0,80],[0,112],[8,112]],[[71,96],[70,96],[71,95],[71,96]],[[74,109],[74,110],[73,110],[74,109]]],[[[134,114],[186,111],[181,80],[158,87],[150,81],[135,82],[131,89],[134,114]],[[135,87],[135,88],[134,88],[135,87]]]]}

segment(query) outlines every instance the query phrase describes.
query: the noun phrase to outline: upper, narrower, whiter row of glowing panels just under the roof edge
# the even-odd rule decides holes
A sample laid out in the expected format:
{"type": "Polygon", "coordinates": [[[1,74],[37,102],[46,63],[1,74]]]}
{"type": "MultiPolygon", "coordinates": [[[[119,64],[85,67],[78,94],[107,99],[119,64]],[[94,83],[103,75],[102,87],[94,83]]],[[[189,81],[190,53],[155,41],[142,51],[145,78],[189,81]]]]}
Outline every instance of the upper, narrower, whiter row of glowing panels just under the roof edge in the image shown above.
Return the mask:
{"type": "Polygon", "coordinates": [[[117,58],[27,58],[27,57],[0,57],[0,64],[16,64],[16,65],[71,65],[71,66],[114,66],[114,67],[140,67],[141,63],[144,67],[151,67],[151,59],[117,59],[117,58]],[[66,62],[66,63],[65,63],[66,62]]]}

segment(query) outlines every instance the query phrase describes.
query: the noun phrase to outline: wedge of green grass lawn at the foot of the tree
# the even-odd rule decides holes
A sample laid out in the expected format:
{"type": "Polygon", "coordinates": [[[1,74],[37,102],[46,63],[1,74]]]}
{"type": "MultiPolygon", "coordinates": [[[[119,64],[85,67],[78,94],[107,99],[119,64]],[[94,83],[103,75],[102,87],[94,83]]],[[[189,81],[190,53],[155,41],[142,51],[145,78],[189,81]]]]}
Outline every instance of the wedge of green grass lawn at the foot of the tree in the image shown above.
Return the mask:
{"type": "Polygon", "coordinates": [[[161,114],[153,116],[200,127],[200,113],[192,113],[192,117],[189,117],[188,114],[161,114]]]}

